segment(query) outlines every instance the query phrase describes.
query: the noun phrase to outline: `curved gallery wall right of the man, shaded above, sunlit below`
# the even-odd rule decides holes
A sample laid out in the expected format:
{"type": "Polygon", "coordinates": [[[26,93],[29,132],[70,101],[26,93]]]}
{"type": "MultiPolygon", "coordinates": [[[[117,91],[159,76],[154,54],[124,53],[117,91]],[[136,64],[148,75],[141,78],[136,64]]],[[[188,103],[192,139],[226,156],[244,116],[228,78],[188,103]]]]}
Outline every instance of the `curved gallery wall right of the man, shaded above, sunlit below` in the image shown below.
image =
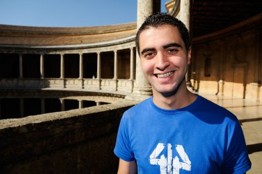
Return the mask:
{"type": "Polygon", "coordinates": [[[260,98],[261,21],[262,15],[258,15],[225,30],[193,39],[191,82],[194,90],[260,98]]]}

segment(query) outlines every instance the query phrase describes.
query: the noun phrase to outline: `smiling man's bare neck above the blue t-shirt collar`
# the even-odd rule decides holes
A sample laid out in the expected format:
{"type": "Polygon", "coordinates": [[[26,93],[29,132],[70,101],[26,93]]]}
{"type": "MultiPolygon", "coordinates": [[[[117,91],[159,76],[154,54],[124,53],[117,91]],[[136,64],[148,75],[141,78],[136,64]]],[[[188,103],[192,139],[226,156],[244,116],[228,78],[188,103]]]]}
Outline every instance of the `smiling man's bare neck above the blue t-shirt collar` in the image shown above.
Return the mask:
{"type": "Polygon", "coordinates": [[[163,109],[184,108],[185,106],[192,104],[196,99],[196,95],[191,93],[186,87],[185,81],[182,82],[180,88],[173,95],[166,97],[153,90],[153,96],[154,104],[163,109]]]}

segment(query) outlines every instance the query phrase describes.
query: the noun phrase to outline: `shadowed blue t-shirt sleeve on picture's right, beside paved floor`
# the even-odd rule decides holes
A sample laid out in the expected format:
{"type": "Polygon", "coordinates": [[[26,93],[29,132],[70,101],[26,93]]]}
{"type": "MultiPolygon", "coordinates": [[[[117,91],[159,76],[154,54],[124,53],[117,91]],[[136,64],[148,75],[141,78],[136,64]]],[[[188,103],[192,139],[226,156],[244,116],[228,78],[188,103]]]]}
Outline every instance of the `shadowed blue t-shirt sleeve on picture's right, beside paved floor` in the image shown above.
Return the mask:
{"type": "Polygon", "coordinates": [[[223,161],[222,173],[245,173],[251,168],[245,138],[239,122],[236,123],[228,151],[223,161]]]}

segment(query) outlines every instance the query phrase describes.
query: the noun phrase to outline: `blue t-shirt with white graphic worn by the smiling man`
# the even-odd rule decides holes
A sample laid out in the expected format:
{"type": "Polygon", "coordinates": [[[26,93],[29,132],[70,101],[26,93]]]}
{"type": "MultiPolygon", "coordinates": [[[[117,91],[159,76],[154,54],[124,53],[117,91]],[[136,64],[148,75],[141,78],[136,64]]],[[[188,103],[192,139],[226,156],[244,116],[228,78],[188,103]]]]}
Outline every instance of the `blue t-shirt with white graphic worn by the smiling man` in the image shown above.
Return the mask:
{"type": "Polygon", "coordinates": [[[139,173],[245,173],[251,162],[241,126],[225,108],[198,96],[165,110],[152,97],[127,110],[114,153],[139,173]]]}

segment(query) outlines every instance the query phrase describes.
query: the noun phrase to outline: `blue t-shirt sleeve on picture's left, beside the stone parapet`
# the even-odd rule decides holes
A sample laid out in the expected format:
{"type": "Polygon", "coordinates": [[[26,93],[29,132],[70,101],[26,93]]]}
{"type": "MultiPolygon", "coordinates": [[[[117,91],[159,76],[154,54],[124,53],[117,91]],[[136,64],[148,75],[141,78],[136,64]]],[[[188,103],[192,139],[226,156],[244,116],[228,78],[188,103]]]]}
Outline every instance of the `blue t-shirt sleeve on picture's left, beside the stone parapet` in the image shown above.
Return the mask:
{"type": "Polygon", "coordinates": [[[134,153],[132,153],[130,146],[130,139],[128,133],[128,119],[124,114],[117,133],[117,142],[114,147],[114,154],[117,155],[121,160],[126,162],[134,161],[134,153]]]}

